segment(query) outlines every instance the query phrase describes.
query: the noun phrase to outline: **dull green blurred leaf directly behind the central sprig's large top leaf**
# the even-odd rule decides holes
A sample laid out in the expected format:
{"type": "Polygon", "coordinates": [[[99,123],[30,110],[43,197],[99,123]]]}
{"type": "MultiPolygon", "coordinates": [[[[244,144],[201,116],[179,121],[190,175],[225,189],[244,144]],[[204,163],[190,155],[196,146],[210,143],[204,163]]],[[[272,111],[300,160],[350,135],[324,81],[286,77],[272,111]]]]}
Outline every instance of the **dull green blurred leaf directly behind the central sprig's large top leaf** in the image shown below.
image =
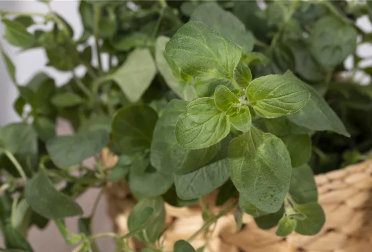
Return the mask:
{"type": "Polygon", "coordinates": [[[252,51],[254,39],[244,24],[229,11],[223,10],[216,3],[205,3],[198,6],[190,17],[216,30],[222,36],[240,45],[245,53],[252,51]]]}

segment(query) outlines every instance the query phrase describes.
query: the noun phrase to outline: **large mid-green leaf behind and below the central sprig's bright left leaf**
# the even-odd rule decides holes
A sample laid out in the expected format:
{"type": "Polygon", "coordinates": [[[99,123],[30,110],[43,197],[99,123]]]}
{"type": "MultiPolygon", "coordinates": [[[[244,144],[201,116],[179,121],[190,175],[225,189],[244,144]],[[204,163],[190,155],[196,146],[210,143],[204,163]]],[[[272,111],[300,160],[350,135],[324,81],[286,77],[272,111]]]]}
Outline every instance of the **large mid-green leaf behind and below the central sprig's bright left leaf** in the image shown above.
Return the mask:
{"type": "Polygon", "coordinates": [[[162,173],[184,174],[207,164],[220,149],[219,144],[199,150],[188,150],[177,144],[175,127],[178,116],[188,102],[171,100],[156,122],[151,142],[151,164],[162,173]]]}

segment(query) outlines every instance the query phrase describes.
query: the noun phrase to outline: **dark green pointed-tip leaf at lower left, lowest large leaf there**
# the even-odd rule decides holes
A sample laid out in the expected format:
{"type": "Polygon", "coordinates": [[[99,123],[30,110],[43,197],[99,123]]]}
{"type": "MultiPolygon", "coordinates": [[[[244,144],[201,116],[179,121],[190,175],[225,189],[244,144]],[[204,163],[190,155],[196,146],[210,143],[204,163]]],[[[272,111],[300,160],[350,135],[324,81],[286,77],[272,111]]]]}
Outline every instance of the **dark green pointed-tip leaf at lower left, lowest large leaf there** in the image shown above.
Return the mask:
{"type": "Polygon", "coordinates": [[[83,210],[73,199],[56,190],[43,170],[39,170],[27,183],[25,195],[30,207],[48,219],[83,214],[83,210]]]}

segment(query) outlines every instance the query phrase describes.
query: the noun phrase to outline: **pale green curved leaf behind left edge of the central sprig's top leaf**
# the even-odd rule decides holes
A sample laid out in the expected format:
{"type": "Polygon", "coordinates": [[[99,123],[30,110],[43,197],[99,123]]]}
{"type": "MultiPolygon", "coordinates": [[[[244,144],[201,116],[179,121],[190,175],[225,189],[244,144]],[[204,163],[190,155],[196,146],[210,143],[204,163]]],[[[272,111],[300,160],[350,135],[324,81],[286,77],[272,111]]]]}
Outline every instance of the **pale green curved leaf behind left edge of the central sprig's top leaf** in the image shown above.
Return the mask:
{"type": "Polygon", "coordinates": [[[169,37],[159,36],[156,39],[155,44],[155,61],[157,69],[163,76],[168,87],[170,87],[178,96],[187,101],[192,101],[196,98],[195,90],[192,85],[185,82],[182,79],[181,69],[174,64],[172,59],[164,55],[167,42],[170,40],[169,37]],[[172,71],[172,66],[175,68],[175,71],[172,71]]]}

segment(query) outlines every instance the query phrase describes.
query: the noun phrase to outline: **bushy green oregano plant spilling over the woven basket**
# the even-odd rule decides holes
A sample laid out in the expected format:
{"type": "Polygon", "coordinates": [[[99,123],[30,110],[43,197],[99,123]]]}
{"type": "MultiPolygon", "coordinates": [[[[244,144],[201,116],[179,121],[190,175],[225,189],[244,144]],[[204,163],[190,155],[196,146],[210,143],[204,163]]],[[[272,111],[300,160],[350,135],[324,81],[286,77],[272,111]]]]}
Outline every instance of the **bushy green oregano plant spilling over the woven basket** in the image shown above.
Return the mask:
{"type": "Polygon", "coordinates": [[[372,15],[369,2],[81,0],[78,39],[40,2],[48,13],[0,10],[5,41],[44,49],[46,67],[71,79],[58,86],[39,72],[19,83],[0,47],[21,118],[0,128],[1,251],[34,251],[29,228],[49,222],[74,252],[100,251],[105,236],[116,251],[133,251],[129,238],[165,251],[165,204],[203,208],[204,225],[175,252],[202,251],[208,244],[189,242],[234,211],[238,229],[249,214],[278,236],[314,235],[326,220],[314,174],[370,157],[372,89],[354,78],[372,74],[356,53],[372,41],[356,25],[372,15]],[[59,118],[73,135],[56,133],[59,118]],[[118,157],[114,167],[103,149],[118,157]],[[121,180],[137,200],[129,232],[93,234],[100,197],[121,180]],[[84,213],[75,200],[92,187],[101,192],[84,213]],[[217,214],[202,204],[216,190],[217,206],[233,202],[217,214]],[[78,232],[65,225],[71,216],[78,232]]]}

